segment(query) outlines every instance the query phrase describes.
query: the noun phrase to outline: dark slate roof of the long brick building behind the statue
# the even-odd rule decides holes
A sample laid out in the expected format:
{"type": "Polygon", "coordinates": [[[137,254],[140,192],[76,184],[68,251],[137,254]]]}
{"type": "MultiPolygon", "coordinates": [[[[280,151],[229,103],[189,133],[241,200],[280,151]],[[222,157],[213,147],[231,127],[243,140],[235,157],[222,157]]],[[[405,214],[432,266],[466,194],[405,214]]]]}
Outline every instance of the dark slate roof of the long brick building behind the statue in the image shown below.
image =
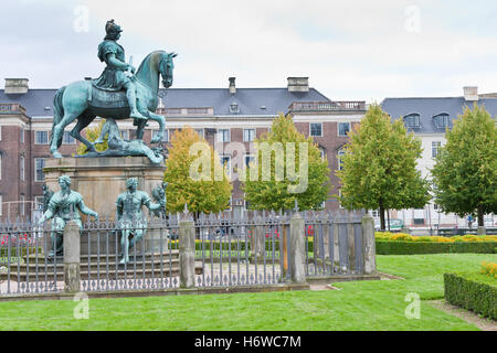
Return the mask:
{"type": "MultiPolygon", "coordinates": [[[[53,116],[53,98],[56,89],[29,89],[27,94],[6,95],[0,89],[0,103],[21,104],[30,117],[53,116]],[[49,110],[45,108],[49,107],[49,110]]],[[[212,107],[214,115],[233,115],[230,105],[236,103],[237,115],[277,115],[287,113],[293,101],[329,101],[315,88],[309,92],[288,92],[285,88],[236,88],[234,95],[229,88],[168,88],[160,89],[166,108],[212,107]],[[261,107],[264,106],[265,109],[261,107]]]]}

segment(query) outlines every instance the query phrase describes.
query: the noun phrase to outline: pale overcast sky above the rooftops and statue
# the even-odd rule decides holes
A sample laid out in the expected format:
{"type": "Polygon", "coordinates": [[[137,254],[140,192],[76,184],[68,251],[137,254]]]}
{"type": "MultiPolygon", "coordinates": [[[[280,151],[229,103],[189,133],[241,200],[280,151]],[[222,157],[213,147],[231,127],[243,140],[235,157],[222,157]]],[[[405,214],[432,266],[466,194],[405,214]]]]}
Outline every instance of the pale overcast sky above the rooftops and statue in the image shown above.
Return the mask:
{"type": "Polygon", "coordinates": [[[59,88],[97,77],[105,22],[134,65],[177,52],[172,87],[285,87],[335,100],[497,92],[497,2],[484,0],[2,1],[0,78],[59,88]]]}

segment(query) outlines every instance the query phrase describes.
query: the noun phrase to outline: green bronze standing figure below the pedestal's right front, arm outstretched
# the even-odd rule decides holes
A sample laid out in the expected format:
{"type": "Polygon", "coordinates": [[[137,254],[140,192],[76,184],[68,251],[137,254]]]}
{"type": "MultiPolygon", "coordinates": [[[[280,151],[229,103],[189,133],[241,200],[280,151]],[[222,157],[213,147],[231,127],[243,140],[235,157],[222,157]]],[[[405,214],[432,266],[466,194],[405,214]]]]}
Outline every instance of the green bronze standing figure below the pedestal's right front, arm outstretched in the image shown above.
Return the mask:
{"type": "Polygon", "coordinates": [[[121,229],[120,245],[123,258],[119,264],[129,261],[129,250],[142,239],[147,231],[147,221],[144,217],[141,207],[145,205],[150,211],[160,210],[166,200],[159,204],[151,202],[145,191],[137,190],[138,181],[129,178],[126,181],[127,191],[117,196],[117,224],[121,229]]]}

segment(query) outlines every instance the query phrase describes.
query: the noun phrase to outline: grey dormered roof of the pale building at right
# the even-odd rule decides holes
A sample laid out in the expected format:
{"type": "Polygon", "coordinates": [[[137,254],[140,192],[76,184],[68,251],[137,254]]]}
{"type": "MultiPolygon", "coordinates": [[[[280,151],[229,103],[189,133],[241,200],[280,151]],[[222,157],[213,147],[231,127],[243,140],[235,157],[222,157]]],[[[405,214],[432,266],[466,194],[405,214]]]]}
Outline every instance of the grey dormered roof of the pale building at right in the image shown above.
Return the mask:
{"type": "MultiPolygon", "coordinates": [[[[473,107],[473,101],[467,101],[464,97],[413,97],[413,98],[385,98],[381,103],[381,108],[388,113],[392,120],[405,117],[410,114],[420,115],[420,128],[409,128],[413,132],[445,132],[444,128],[438,128],[433,119],[440,114],[448,114],[451,125],[463,114],[465,106],[473,107]]],[[[480,98],[477,104],[495,117],[497,115],[497,99],[480,98]]]]}

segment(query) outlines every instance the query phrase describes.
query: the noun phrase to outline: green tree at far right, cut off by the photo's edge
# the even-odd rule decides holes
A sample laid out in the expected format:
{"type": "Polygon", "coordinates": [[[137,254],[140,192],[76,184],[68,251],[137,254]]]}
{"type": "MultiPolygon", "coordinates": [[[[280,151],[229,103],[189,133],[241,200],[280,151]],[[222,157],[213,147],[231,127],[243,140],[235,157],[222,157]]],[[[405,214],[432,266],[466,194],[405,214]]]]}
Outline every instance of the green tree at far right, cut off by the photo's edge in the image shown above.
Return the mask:
{"type": "Polygon", "coordinates": [[[465,107],[445,132],[447,142],[432,170],[435,202],[443,212],[478,216],[497,211],[497,133],[495,119],[484,107],[465,107]]]}

